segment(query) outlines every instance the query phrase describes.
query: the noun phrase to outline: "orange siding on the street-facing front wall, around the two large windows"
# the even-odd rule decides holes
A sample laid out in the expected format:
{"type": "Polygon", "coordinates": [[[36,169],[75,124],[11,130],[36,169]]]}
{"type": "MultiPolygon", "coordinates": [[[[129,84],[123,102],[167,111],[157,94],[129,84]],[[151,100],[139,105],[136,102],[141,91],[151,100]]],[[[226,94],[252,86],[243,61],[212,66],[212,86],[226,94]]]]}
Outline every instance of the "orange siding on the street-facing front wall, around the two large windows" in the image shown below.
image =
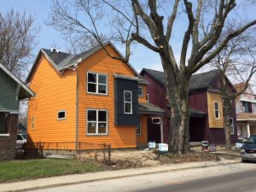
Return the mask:
{"type": "MultiPolygon", "coordinates": [[[[117,53],[107,47],[111,55],[117,53]]],[[[111,59],[103,49],[91,55],[79,65],[79,142],[111,143],[113,148],[136,148],[136,126],[116,126],[114,123],[114,77],[113,73],[134,76],[127,64],[111,59]],[[108,75],[108,96],[87,94],[87,72],[108,75]],[[108,110],[108,136],[86,135],[86,109],[108,110]]]]}

